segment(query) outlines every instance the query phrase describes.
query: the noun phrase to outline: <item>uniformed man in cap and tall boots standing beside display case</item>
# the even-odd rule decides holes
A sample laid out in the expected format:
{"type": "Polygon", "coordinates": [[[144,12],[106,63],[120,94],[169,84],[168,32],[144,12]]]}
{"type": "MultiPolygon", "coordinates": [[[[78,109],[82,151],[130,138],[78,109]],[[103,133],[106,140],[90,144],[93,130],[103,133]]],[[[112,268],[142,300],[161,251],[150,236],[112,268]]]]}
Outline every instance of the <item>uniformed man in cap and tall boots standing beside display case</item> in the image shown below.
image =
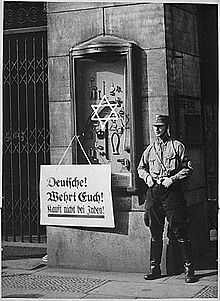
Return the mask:
{"type": "Polygon", "coordinates": [[[142,154],[139,177],[144,180],[146,192],[144,221],[151,232],[150,274],[146,280],[161,277],[161,256],[165,217],[168,221],[169,241],[180,246],[185,272],[185,282],[195,281],[191,260],[191,245],[187,235],[186,204],[182,185],[192,173],[191,162],[185,156],[184,145],[168,134],[169,118],[156,115],[153,129],[156,141],[142,154]]]}

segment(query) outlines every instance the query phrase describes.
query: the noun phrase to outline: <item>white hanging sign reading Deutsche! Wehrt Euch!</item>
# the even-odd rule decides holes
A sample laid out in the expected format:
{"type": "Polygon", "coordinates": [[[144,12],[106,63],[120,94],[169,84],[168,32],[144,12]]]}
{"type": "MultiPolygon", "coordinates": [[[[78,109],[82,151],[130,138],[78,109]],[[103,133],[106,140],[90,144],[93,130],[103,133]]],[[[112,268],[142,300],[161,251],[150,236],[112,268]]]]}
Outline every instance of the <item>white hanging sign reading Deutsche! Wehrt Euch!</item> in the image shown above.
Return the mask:
{"type": "Polygon", "coordinates": [[[114,228],[111,165],[41,165],[40,223],[114,228]]]}

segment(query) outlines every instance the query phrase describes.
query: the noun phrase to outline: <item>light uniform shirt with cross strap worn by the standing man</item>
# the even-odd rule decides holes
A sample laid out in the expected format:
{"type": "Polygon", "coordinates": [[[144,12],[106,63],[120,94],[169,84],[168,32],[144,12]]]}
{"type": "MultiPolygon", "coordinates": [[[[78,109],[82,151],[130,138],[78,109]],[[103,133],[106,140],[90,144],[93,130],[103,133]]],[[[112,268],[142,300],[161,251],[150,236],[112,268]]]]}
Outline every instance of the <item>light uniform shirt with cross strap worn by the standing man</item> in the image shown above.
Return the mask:
{"type": "Polygon", "coordinates": [[[187,178],[191,172],[192,166],[185,156],[185,146],[168,136],[165,141],[158,138],[148,145],[138,166],[138,175],[145,182],[148,175],[154,180],[168,176],[177,181],[187,178]]]}

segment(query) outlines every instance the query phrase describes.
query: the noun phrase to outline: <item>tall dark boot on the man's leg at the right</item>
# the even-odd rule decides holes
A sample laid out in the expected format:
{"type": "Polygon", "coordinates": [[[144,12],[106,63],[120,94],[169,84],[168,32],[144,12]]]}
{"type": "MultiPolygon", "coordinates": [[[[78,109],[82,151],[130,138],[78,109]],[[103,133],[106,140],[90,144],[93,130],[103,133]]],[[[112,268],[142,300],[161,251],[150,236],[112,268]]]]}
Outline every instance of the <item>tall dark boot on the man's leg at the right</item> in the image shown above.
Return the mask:
{"type": "Polygon", "coordinates": [[[192,263],[192,254],[191,254],[191,244],[190,241],[179,242],[181,253],[184,261],[184,273],[185,273],[185,282],[192,283],[195,282],[194,275],[194,266],[192,263]]]}

